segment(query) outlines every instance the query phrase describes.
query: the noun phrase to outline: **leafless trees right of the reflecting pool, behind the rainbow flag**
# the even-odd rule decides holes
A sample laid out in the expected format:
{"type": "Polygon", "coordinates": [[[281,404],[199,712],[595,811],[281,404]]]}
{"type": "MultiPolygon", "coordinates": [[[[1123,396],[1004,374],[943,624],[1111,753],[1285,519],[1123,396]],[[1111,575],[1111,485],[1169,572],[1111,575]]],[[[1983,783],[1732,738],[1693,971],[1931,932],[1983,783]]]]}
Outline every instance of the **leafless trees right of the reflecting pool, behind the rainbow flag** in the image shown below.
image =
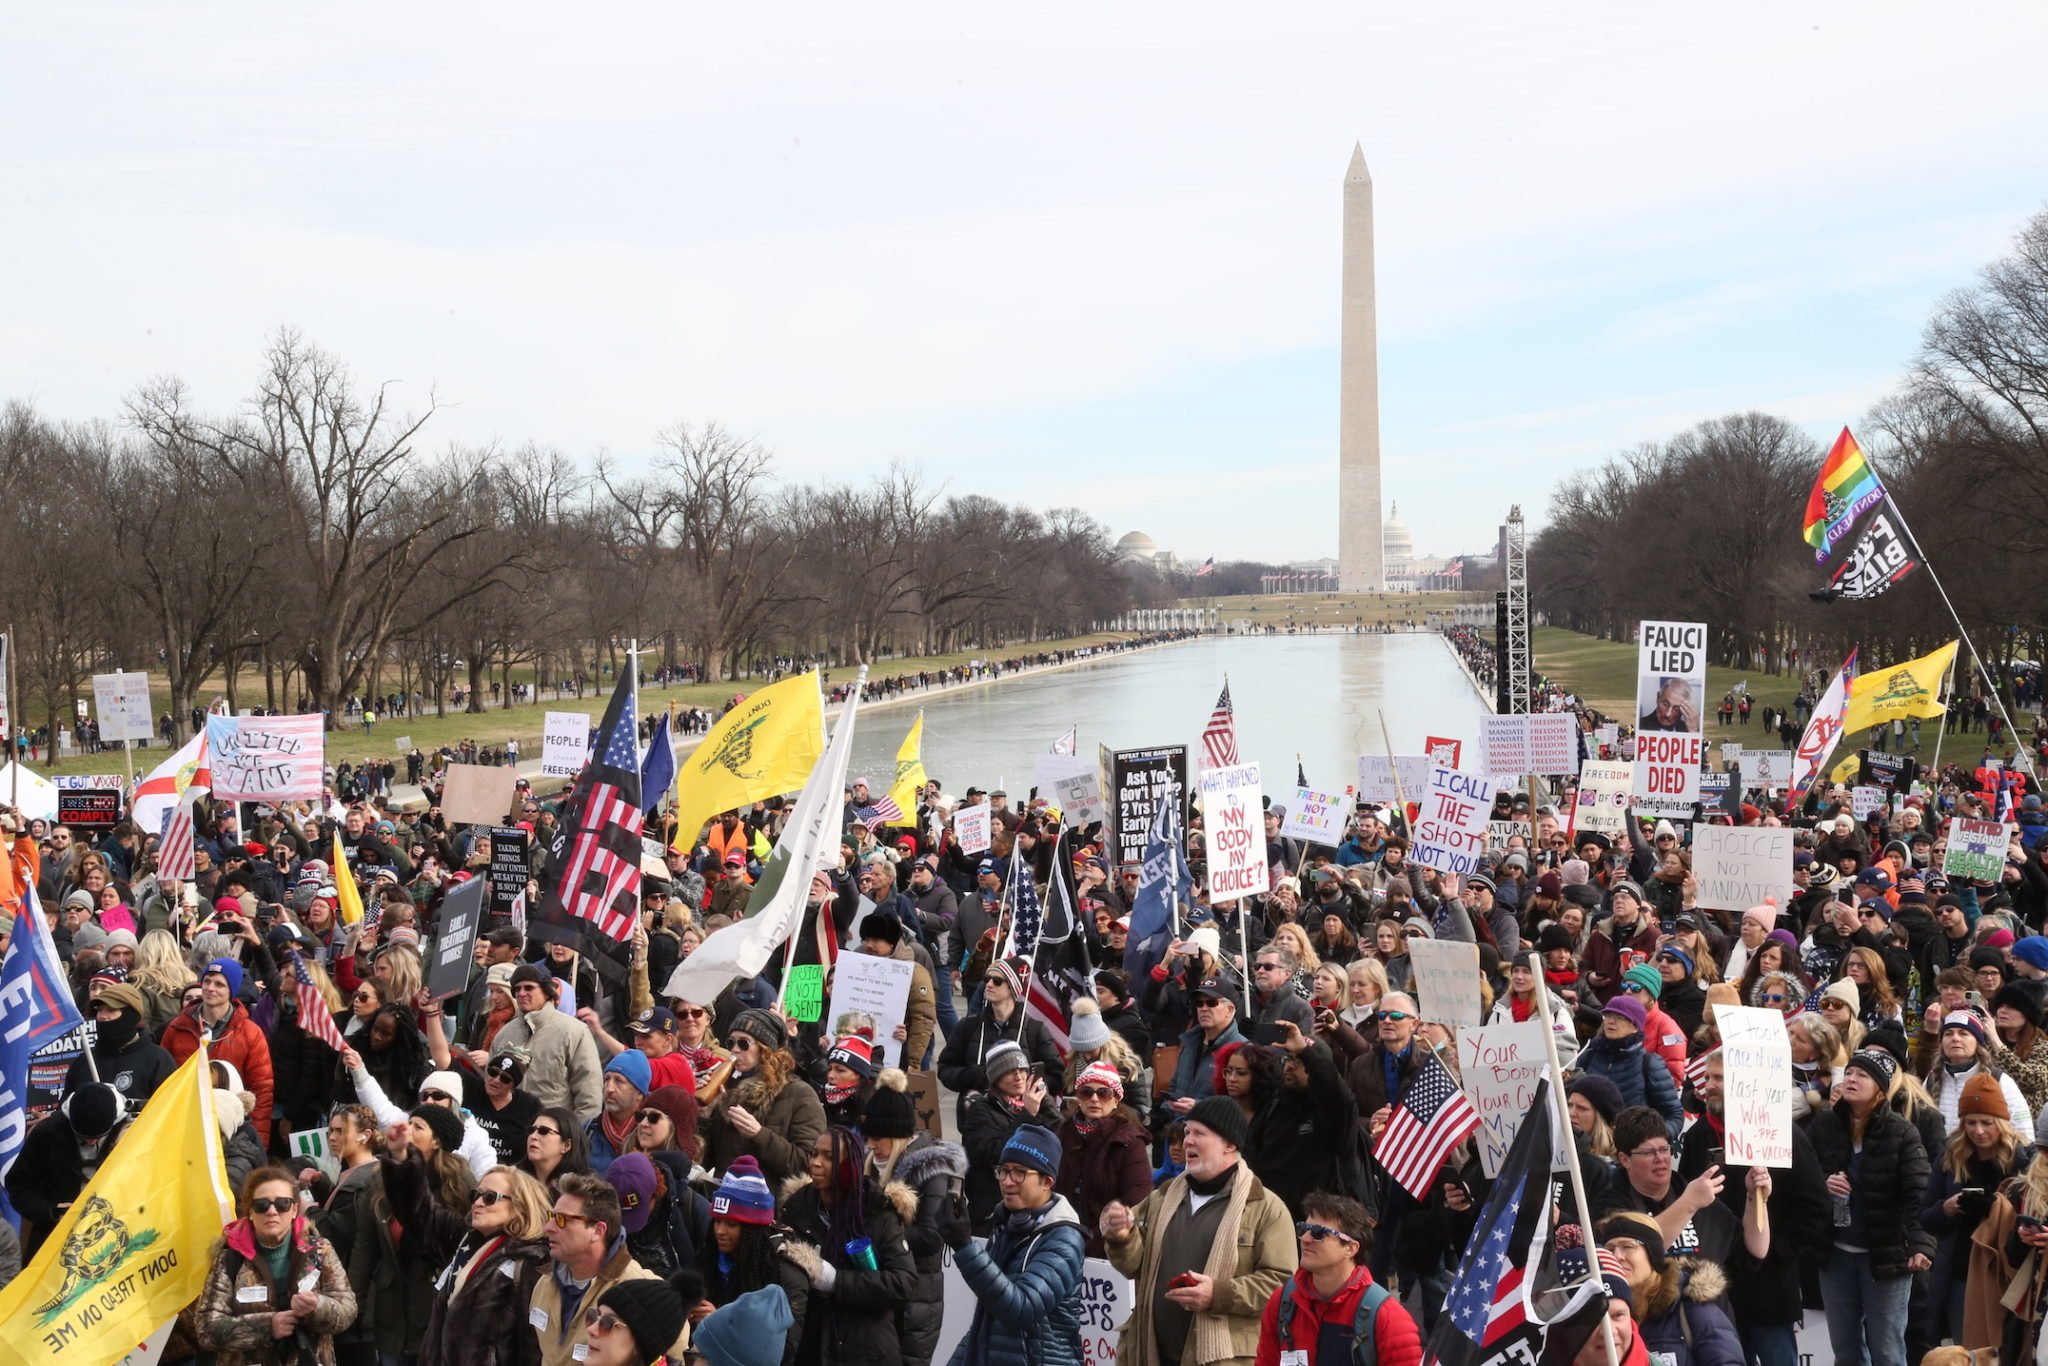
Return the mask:
{"type": "MultiPolygon", "coordinates": [[[[2048,655],[2048,213],[1929,319],[1896,393],[1855,424],[1989,659],[2048,655]]],[[[1825,446],[1763,414],[1702,422],[1567,479],[1530,549],[1556,625],[1626,639],[1636,621],[1712,623],[1720,664],[1790,651],[1872,664],[1956,635],[1925,569],[1868,602],[1815,602],[1800,539],[1825,446]]]]}

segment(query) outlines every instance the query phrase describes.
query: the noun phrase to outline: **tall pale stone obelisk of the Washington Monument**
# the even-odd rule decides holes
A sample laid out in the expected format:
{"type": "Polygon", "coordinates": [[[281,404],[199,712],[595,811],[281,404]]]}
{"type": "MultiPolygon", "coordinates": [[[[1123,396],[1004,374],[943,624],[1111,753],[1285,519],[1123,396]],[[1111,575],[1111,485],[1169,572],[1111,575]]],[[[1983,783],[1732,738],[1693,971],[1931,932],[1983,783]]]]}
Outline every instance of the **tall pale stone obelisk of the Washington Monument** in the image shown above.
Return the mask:
{"type": "Polygon", "coordinates": [[[1337,375],[1337,573],[1343,592],[1384,592],[1380,547],[1380,334],[1372,289],[1372,172],[1343,172],[1343,342],[1337,375]]]}

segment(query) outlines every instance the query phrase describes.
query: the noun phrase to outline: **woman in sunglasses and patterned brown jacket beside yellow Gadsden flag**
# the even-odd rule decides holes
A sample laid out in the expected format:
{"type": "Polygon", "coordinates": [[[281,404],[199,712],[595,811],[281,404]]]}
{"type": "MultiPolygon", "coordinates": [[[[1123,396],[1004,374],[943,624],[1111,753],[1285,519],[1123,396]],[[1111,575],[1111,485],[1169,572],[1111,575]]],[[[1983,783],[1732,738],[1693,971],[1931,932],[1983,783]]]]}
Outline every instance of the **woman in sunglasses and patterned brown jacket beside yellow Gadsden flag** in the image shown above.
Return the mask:
{"type": "Polygon", "coordinates": [[[356,1317],[340,1257],[299,1214],[299,1184],[258,1167],[242,1184],[246,1216],[221,1231],[199,1294],[199,1341],[219,1366],[332,1362],[334,1333],[356,1317]]]}

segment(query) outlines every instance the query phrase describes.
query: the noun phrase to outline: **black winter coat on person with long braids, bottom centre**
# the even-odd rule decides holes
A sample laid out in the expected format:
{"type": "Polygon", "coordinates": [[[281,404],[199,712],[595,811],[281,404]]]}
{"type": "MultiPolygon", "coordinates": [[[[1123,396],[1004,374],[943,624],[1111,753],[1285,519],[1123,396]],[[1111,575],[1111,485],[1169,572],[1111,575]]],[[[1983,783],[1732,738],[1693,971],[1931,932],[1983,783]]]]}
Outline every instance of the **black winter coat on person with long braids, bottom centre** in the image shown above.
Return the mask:
{"type": "Polygon", "coordinates": [[[803,1346],[799,1362],[862,1362],[862,1366],[901,1366],[903,1339],[897,1317],[918,1292],[918,1264],[903,1237],[903,1221],[915,1214],[915,1200],[899,1186],[897,1204],[874,1182],[862,1180],[860,1202],[874,1245],[872,1272],[852,1264],[844,1247],[825,1247],[829,1231],[825,1204],[817,1186],[805,1186],[782,1206],[782,1223],[791,1237],[778,1251],[811,1276],[811,1300],[805,1305],[803,1346]],[[817,1266],[829,1262],[838,1274],[831,1290],[817,1288],[817,1266]]]}

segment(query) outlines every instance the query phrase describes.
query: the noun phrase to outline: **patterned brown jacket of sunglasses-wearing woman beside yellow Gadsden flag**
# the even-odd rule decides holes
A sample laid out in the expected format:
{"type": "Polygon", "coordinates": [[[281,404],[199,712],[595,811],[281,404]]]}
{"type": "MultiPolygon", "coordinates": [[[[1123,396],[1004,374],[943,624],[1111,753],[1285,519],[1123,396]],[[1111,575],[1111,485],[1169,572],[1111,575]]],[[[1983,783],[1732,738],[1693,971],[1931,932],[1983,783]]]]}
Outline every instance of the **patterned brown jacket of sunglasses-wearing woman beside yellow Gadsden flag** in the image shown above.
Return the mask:
{"type": "Polygon", "coordinates": [[[315,1282],[309,1288],[319,1305],[299,1321],[299,1329],[313,1350],[313,1360],[319,1366],[334,1366],[334,1335],[354,1321],[356,1296],[328,1241],[303,1219],[295,1219],[285,1282],[272,1284],[250,1221],[238,1219],[227,1225],[193,1315],[199,1343],[215,1354],[215,1366],[299,1360],[293,1350],[297,1337],[281,1343],[270,1335],[270,1315],[289,1311],[291,1296],[307,1278],[315,1282]]]}

